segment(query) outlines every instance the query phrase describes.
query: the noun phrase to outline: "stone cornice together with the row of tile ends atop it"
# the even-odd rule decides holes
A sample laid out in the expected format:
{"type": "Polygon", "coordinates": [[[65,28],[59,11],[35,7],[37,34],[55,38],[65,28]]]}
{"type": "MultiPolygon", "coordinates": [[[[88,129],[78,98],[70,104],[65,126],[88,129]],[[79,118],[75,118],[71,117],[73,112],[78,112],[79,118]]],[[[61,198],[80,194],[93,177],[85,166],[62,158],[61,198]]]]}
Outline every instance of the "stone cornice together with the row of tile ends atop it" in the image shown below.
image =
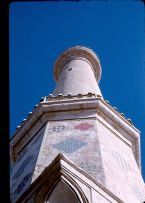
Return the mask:
{"type": "MultiPolygon", "coordinates": [[[[134,131],[133,134],[138,134],[140,131],[135,128],[135,126],[130,122],[130,119],[126,119],[122,113],[119,113],[116,108],[113,108],[108,104],[108,101],[105,101],[101,98],[100,95],[68,95],[68,96],[60,96],[57,97],[45,97],[43,100],[37,105],[37,108],[34,107],[33,112],[28,114],[28,118],[24,119],[20,126],[16,129],[14,135],[11,138],[11,141],[15,138],[16,134],[19,134],[22,131],[22,128],[27,128],[29,125],[33,124],[38,120],[45,112],[60,112],[60,111],[69,111],[75,109],[97,109],[99,108],[106,116],[115,119],[115,121],[120,121],[126,123],[128,125],[128,129],[134,131]],[[82,104],[82,105],[81,105],[82,104]],[[69,105],[69,106],[68,106],[69,105]],[[81,105],[81,106],[80,106],[81,105]],[[28,125],[28,123],[30,123],[28,125]],[[136,133],[135,133],[136,132],[136,133]]],[[[119,124],[119,122],[118,122],[119,124]]],[[[123,127],[125,127],[123,125],[123,127]]],[[[127,131],[128,132],[128,131],[127,131]]],[[[22,132],[20,133],[22,134],[22,132]]],[[[136,135],[138,137],[138,135],[136,135]]]]}

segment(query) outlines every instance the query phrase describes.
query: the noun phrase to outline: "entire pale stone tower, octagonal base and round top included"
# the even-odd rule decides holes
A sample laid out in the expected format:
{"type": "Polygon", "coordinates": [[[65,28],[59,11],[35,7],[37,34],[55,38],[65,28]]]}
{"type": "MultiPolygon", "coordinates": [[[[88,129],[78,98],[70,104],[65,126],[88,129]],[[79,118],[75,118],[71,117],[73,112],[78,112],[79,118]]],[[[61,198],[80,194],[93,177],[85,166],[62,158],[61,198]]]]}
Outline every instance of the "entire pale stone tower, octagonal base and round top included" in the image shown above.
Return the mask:
{"type": "Polygon", "coordinates": [[[142,203],[140,132],[103,99],[96,54],[56,61],[57,86],[11,140],[12,203],[142,203]]]}

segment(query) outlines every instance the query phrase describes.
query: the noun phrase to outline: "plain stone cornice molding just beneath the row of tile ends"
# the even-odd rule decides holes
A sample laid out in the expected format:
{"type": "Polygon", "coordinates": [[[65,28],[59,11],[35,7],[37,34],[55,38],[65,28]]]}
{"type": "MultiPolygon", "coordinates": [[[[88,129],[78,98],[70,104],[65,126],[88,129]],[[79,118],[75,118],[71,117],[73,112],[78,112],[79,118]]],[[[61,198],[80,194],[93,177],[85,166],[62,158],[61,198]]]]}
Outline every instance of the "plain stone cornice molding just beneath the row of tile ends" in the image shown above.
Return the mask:
{"type": "MultiPolygon", "coordinates": [[[[122,130],[122,136],[132,139],[132,147],[137,161],[140,167],[140,132],[133,125],[130,124],[122,115],[116,112],[109,104],[107,104],[101,97],[98,98],[76,98],[71,100],[55,100],[55,101],[44,101],[34,109],[31,116],[23,123],[23,125],[16,131],[15,135],[11,139],[11,158],[13,160],[14,152],[13,149],[17,143],[25,136],[29,129],[34,126],[38,121],[42,126],[45,122],[49,121],[50,118],[45,118],[46,113],[62,113],[69,111],[79,110],[95,110],[95,113],[101,112],[104,118],[109,118],[108,122],[114,122],[118,128],[122,130]],[[45,120],[44,120],[45,118],[45,120]]],[[[62,118],[61,118],[62,119],[62,118]]],[[[74,119],[75,120],[75,119],[74,119]]],[[[112,124],[111,124],[112,125],[112,124]]]]}

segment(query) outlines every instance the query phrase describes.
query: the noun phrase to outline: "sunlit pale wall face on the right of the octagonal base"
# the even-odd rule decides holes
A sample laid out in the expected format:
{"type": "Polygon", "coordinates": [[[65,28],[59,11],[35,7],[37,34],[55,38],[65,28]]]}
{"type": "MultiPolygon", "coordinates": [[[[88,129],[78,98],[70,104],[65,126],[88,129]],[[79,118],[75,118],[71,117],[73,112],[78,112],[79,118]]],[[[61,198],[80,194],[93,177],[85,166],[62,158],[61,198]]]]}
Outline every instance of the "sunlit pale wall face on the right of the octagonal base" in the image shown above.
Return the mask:
{"type": "Polygon", "coordinates": [[[125,202],[143,202],[145,186],[132,148],[101,122],[97,126],[106,187],[125,202]]]}

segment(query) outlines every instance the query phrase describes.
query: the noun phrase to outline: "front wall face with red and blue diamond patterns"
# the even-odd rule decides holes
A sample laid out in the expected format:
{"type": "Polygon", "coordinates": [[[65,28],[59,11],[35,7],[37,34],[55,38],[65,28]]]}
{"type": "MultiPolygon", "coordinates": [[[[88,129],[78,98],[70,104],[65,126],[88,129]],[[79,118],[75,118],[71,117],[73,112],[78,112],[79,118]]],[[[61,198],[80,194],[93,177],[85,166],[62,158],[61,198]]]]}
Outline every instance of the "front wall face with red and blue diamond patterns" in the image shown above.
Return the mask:
{"type": "Polygon", "coordinates": [[[105,185],[96,120],[48,122],[34,176],[37,177],[59,153],[105,185]]]}

